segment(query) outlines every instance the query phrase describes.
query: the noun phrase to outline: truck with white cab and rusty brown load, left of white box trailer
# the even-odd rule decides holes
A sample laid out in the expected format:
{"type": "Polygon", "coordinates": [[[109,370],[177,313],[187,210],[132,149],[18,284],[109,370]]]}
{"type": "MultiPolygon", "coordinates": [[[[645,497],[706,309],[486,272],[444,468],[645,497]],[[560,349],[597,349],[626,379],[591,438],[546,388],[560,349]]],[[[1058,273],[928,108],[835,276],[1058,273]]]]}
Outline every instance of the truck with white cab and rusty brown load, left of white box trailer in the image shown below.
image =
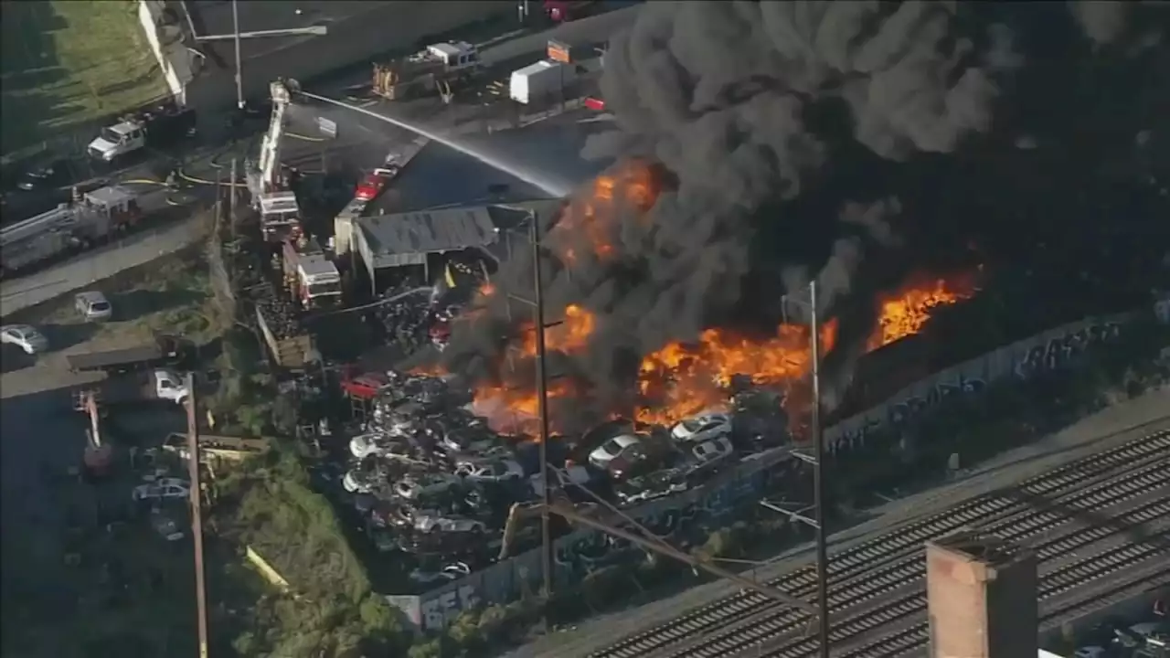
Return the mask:
{"type": "Polygon", "coordinates": [[[373,92],[387,101],[438,92],[445,103],[453,89],[474,80],[480,70],[480,52],[466,41],[433,43],[425,49],[385,64],[373,66],[373,92]]]}

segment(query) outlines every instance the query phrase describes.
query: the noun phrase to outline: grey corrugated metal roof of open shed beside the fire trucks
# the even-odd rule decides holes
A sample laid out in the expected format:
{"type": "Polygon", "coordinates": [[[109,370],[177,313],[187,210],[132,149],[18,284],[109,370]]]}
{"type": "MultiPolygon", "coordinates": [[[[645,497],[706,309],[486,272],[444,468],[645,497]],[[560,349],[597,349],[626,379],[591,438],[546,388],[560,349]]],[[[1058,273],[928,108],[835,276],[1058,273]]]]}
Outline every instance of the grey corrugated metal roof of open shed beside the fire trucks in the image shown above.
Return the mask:
{"type": "Polygon", "coordinates": [[[376,268],[414,263],[422,254],[483,247],[498,239],[484,206],[363,217],[357,225],[366,247],[363,256],[372,258],[376,268]]]}

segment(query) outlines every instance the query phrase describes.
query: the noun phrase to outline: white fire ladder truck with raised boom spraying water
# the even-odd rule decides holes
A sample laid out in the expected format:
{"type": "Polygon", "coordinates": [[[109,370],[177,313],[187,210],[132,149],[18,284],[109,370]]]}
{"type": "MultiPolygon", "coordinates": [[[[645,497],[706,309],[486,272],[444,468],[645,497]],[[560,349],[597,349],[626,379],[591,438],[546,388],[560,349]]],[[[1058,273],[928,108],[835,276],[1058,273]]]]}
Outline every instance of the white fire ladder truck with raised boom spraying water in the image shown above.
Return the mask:
{"type": "Polygon", "coordinates": [[[301,234],[301,206],[291,190],[289,174],[281,169],[281,139],[284,136],[285,112],[292,95],[301,90],[295,80],[278,78],[269,84],[273,116],[260,144],[260,159],[248,172],[248,191],[253,206],[260,212],[264,239],[283,242],[301,234]]]}

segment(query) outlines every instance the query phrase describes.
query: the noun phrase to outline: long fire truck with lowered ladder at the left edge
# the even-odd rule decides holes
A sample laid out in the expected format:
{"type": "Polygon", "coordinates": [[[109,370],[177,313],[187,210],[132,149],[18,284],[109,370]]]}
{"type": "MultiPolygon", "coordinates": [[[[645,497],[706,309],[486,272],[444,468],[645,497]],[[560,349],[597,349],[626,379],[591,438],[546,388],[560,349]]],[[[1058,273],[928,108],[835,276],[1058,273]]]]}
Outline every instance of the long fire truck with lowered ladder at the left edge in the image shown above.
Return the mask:
{"type": "Polygon", "coordinates": [[[142,215],[138,196],[126,187],[75,191],[70,201],[0,231],[0,270],[8,275],[89,248],[135,227],[142,215]]]}

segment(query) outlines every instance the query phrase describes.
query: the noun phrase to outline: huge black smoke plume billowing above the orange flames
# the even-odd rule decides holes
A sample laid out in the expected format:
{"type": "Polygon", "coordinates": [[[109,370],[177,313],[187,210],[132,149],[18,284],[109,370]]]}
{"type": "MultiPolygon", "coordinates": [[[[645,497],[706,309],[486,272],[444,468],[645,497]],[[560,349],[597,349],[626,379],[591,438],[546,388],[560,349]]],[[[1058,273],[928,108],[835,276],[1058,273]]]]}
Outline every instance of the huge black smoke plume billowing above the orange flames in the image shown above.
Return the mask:
{"type": "MultiPolygon", "coordinates": [[[[972,241],[1010,226],[999,211],[969,217],[968,206],[999,193],[979,190],[978,177],[1006,176],[989,163],[1079,138],[1069,131],[1083,124],[1071,115],[1092,112],[1068,103],[1096,101],[1073,90],[1113,75],[1081,71],[1165,62],[1162,8],[647,2],[605,55],[601,92],[617,130],[584,155],[660,163],[662,189],[647,213],[626,208],[605,228],[606,258],[591,255],[593,233],[543,218],[553,251],[577,245],[571,263],[546,263],[550,320],[569,303],[599,316],[589,349],[555,368],[591,382],[608,411],[628,399],[639,355],[711,325],[766,330],[782,313],[801,313],[780,299],[815,280],[819,310],[841,322],[830,381],[844,386],[875,293],[911,269],[987,258],[970,252],[972,241]]],[[[1133,88],[1143,85],[1166,82],[1133,88]]],[[[1102,121],[1124,132],[1122,118],[1149,118],[1135,112],[1102,121]]],[[[530,270],[528,258],[505,263],[501,294],[456,325],[448,368],[509,377],[503,344],[531,311],[507,293],[531,297],[530,270]]],[[[530,383],[526,371],[516,377],[530,383]]]]}

